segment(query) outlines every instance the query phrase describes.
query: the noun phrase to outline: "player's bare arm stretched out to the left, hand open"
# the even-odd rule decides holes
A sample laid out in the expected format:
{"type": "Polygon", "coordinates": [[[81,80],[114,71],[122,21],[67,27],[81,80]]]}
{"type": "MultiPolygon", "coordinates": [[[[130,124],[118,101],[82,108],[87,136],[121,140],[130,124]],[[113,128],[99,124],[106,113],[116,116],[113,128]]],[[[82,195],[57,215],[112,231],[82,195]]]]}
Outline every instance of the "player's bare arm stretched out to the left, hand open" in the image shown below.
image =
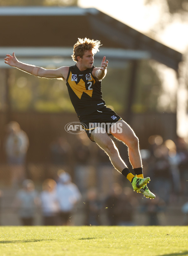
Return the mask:
{"type": "Polygon", "coordinates": [[[13,52],[13,56],[11,56],[10,54],[7,54],[4,60],[5,60],[5,63],[10,65],[11,67],[16,67],[36,77],[44,77],[44,78],[63,77],[64,79],[66,79],[69,71],[69,67],[60,67],[58,69],[45,69],[43,67],[36,67],[33,65],[22,63],[17,60],[14,52],[13,52]]]}

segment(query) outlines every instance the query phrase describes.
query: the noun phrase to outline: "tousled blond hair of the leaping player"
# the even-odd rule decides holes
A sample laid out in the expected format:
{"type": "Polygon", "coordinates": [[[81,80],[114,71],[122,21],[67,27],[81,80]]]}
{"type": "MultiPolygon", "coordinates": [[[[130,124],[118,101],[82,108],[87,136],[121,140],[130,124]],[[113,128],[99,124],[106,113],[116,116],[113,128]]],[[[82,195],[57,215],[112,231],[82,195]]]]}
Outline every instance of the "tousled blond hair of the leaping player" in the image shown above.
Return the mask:
{"type": "Polygon", "coordinates": [[[88,38],[78,38],[78,41],[74,45],[73,54],[71,55],[73,61],[78,61],[77,57],[80,56],[81,58],[84,55],[85,51],[92,51],[92,54],[95,54],[99,51],[99,47],[101,46],[101,42],[98,40],[91,40],[88,38]]]}

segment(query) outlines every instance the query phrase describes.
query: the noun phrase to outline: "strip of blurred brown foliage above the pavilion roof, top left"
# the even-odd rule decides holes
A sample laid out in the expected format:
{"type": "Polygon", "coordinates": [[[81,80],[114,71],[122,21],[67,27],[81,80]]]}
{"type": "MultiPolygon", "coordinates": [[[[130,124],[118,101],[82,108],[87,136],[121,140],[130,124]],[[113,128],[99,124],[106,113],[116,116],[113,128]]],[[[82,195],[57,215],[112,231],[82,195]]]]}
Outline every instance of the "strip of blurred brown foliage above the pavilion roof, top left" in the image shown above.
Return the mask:
{"type": "Polygon", "coordinates": [[[0,6],[77,6],[78,0],[0,0],[0,6]]]}

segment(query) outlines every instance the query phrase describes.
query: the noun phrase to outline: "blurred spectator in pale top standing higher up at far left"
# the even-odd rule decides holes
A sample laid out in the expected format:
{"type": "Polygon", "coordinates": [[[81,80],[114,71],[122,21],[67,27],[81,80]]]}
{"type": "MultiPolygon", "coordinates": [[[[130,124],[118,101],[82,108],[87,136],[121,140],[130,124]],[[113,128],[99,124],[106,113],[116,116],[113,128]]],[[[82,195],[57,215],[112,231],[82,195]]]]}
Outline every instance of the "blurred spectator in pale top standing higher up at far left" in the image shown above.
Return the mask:
{"type": "Polygon", "coordinates": [[[20,125],[12,121],[7,125],[5,151],[7,162],[11,171],[11,183],[18,186],[25,179],[25,160],[29,147],[27,134],[21,130],[20,125]]]}

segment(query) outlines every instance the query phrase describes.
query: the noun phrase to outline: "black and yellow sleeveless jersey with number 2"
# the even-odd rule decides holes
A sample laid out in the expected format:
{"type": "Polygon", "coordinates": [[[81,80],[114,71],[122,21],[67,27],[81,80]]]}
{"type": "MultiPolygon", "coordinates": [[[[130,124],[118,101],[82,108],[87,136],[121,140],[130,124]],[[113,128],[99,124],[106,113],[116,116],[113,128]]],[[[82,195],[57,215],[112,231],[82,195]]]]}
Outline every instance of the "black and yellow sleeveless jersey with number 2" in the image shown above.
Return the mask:
{"type": "Polygon", "coordinates": [[[88,115],[105,106],[101,81],[96,81],[92,70],[80,71],[76,65],[69,67],[66,80],[70,100],[78,116],[88,115]]]}

